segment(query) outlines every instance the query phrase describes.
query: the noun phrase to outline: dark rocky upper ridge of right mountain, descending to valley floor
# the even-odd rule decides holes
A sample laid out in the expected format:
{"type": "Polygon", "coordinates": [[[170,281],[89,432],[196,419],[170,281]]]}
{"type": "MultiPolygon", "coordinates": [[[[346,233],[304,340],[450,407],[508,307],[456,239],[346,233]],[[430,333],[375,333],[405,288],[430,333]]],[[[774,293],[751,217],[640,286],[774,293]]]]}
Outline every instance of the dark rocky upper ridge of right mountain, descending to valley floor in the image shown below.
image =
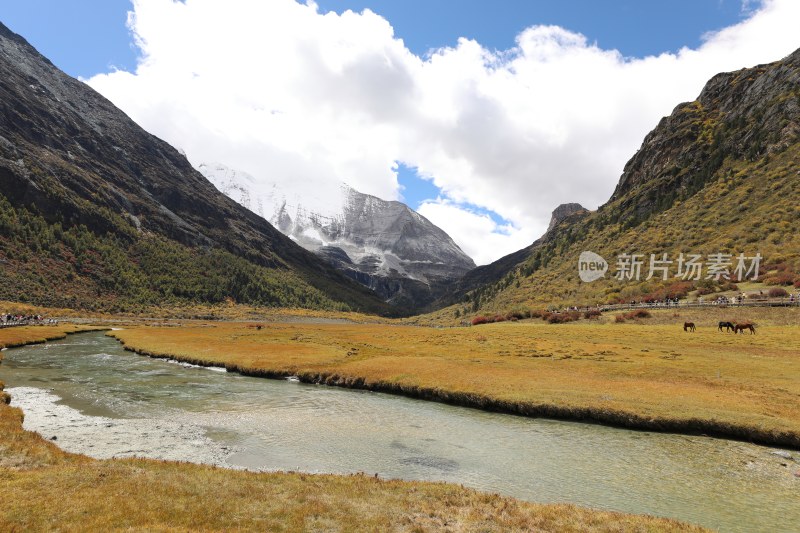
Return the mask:
{"type": "MultiPolygon", "coordinates": [[[[574,253],[568,255],[567,244],[580,242],[590,228],[602,234],[606,227],[614,227],[608,236],[608,241],[614,242],[619,226],[624,230],[626,225],[635,226],[667,211],[676,201],[691,198],[706,184],[719,179],[726,160],[746,170],[751,164],[765,164],[765,155],[796,151],[798,141],[800,50],[781,61],[718,74],[709,80],[696,101],[678,105],[645,137],[605,205],[592,213],[577,204],[560,206],[540,239],[470,271],[437,304],[460,302],[470,291],[481,290],[490,295],[483,303],[497,295],[506,301],[525,301],[526,295],[520,294],[525,290],[524,284],[523,289],[517,289],[511,281],[527,278],[540,268],[571,265],[577,257],[574,253]],[[505,280],[509,283],[503,283],[505,280]]],[[[795,174],[797,170],[790,167],[781,172],[795,174]]],[[[735,179],[729,179],[731,188],[739,186],[735,179]]],[[[759,206],[756,202],[769,203],[770,199],[765,193],[753,199],[751,207],[759,206]]],[[[783,216],[785,220],[787,215],[783,216]]],[[[776,217],[775,223],[779,220],[776,217]]],[[[787,251],[793,251],[791,244],[787,251]]]]}

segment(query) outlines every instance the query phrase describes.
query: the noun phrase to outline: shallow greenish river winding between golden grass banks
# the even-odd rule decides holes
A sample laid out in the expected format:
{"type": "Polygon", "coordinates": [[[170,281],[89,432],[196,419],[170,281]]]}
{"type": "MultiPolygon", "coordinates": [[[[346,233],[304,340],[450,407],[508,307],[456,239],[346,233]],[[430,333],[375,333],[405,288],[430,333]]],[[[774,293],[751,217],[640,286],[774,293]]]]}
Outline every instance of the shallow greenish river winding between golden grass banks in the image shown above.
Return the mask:
{"type": "Polygon", "coordinates": [[[135,355],[100,333],[3,356],[26,429],[98,458],[377,473],[723,531],[800,529],[797,452],[250,378],[135,355]]]}

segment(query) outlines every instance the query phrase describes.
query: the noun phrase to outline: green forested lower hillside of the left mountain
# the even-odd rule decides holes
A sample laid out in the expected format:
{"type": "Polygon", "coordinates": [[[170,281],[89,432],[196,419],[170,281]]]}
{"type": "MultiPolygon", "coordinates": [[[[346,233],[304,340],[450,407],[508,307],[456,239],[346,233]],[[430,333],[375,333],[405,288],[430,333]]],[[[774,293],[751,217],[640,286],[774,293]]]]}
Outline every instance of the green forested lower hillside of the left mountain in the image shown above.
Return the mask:
{"type": "Polygon", "coordinates": [[[114,231],[48,223],[0,195],[0,299],[109,312],[230,299],[261,306],[349,310],[286,269],[219,248],[190,248],[105,209],[114,231]]]}

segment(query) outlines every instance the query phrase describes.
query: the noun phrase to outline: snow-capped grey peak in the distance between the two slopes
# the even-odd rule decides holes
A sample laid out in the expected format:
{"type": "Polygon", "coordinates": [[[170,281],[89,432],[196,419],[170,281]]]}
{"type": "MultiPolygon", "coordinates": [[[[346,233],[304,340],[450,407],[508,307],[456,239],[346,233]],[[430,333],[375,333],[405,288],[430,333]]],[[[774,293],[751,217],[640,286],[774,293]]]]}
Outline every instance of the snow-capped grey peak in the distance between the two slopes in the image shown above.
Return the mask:
{"type": "Polygon", "coordinates": [[[392,303],[423,307],[475,268],[447,233],[401,202],[344,183],[301,197],[224,165],[201,164],[199,170],[221,192],[392,303]]]}

